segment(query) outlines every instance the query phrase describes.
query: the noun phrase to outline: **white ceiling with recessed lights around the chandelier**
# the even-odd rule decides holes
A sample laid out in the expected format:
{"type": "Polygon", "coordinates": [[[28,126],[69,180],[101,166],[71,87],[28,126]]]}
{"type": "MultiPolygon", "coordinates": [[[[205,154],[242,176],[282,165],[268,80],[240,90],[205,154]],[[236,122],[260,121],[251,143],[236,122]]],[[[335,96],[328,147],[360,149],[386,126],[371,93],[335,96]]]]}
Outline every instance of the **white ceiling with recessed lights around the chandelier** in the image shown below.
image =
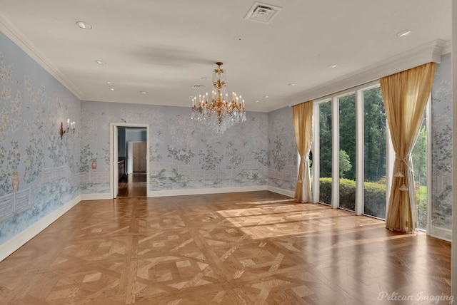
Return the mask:
{"type": "Polygon", "coordinates": [[[282,8],[269,24],[244,19],[253,0],[0,0],[0,29],[81,100],[190,106],[189,95],[211,91],[222,61],[227,91],[253,111],[436,39],[451,41],[451,0],[266,3],[282,8]],[[413,33],[398,38],[405,29],[413,33]]]}

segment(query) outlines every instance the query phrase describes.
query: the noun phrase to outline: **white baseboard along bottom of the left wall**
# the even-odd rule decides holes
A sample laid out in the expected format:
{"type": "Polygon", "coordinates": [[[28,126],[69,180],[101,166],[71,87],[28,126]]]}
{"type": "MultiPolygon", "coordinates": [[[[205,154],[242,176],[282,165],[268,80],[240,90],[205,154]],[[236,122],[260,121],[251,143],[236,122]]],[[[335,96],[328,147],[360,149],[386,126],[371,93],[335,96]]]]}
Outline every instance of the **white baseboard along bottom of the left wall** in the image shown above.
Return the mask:
{"type": "Polygon", "coordinates": [[[34,238],[39,232],[46,229],[49,224],[55,222],[59,217],[68,212],[72,207],[77,205],[81,201],[81,195],[74,197],[72,200],[67,202],[65,205],[59,207],[59,209],[51,212],[44,218],[41,218],[38,222],[35,222],[30,227],[24,229],[24,231],[12,237],[8,241],[1,244],[0,247],[0,262],[9,257],[13,252],[22,247],[30,239],[34,238]]]}

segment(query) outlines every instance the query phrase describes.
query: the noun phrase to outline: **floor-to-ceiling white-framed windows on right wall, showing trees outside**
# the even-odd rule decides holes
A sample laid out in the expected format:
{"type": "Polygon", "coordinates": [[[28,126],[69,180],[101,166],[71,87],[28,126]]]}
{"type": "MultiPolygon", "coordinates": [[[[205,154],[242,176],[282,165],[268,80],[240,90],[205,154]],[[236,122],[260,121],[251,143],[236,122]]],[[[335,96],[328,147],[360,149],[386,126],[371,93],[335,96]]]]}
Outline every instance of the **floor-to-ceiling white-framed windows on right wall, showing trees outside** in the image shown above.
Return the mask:
{"type": "MultiPolygon", "coordinates": [[[[391,184],[388,169],[394,155],[388,153],[392,148],[378,83],[336,93],[315,103],[319,124],[314,135],[318,156],[313,156],[317,167],[313,172],[319,177],[318,201],[386,219],[391,184]]],[[[420,229],[427,225],[430,148],[426,123],[425,116],[412,153],[420,229]]]]}

